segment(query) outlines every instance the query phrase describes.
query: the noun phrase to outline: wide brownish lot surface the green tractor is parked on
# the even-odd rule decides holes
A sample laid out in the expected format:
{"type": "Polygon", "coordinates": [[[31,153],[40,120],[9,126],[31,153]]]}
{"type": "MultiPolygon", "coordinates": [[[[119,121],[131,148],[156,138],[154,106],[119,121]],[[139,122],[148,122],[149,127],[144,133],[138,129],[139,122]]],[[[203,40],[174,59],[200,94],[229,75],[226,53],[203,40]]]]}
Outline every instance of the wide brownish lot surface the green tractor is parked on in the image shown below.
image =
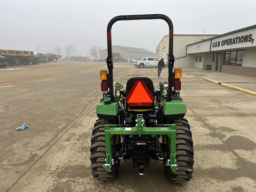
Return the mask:
{"type": "MultiPolygon", "coordinates": [[[[116,181],[99,182],[90,170],[90,137],[104,63],[59,62],[0,71],[0,191],[253,192],[256,191],[256,97],[183,74],[181,96],[192,128],[192,181],[172,184],[163,164],[144,176],[122,162],[116,181]],[[29,68],[32,67],[32,68],[29,68]],[[28,69],[27,69],[28,68],[28,69]],[[31,82],[32,81],[32,82],[31,82]],[[29,128],[15,128],[26,122],[29,128]]],[[[188,71],[188,69],[187,69],[188,71]]],[[[164,68],[119,63],[114,81],[149,76],[164,68]]]]}

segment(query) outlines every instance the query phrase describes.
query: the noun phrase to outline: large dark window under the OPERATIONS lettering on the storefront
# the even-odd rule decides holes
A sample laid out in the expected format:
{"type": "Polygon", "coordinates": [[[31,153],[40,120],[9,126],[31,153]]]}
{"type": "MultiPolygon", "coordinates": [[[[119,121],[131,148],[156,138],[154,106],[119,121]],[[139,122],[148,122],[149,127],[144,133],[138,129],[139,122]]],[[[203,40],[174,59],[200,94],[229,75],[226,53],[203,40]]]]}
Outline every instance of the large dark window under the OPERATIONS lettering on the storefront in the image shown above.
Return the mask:
{"type": "Polygon", "coordinates": [[[232,51],[232,52],[225,52],[225,59],[224,64],[225,65],[237,65],[242,66],[243,64],[243,57],[244,57],[244,51],[232,51]]]}

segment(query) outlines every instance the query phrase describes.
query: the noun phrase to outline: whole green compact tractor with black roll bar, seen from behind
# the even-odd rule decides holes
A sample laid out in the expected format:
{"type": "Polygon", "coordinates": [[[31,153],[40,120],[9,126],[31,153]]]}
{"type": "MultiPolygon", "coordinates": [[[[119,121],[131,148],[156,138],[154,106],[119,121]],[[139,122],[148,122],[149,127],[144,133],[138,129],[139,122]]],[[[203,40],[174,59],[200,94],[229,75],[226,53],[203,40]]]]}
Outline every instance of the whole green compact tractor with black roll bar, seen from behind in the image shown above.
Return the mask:
{"type": "Polygon", "coordinates": [[[150,160],[163,161],[165,176],[173,182],[191,180],[193,141],[186,105],[180,97],[181,69],[173,69],[173,25],[165,15],[116,16],[107,27],[108,71],[100,71],[103,98],[96,106],[92,129],[91,168],[97,180],[115,180],[120,162],[132,159],[144,175],[150,160]],[[126,87],[113,82],[112,25],[119,20],[162,19],[169,26],[168,81],[156,90],[148,77],[132,77],[126,87]]]}

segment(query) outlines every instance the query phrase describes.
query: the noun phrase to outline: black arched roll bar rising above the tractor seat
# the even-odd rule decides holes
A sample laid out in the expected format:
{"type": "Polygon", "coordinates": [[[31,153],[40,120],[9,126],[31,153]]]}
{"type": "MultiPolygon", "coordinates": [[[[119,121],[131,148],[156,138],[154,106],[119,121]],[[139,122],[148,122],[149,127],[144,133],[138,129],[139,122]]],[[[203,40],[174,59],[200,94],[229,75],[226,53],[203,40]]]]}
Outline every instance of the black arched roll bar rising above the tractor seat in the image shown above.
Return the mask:
{"type": "Polygon", "coordinates": [[[161,19],[165,20],[169,26],[169,52],[168,52],[168,96],[167,101],[171,100],[172,96],[172,85],[173,85],[173,64],[174,64],[174,56],[173,56],[173,25],[172,20],[166,15],[163,14],[149,14],[149,15],[124,15],[124,16],[115,16],[108,22],[107,27],[107,40],[108,40],[108,57],[107,57],[107,65],[108,65],[108,88],[111,101],[115,101],[114,90],[113,90],[113,56],[112,56],[112,38],[111,38],[111,29],[112,25],[119,20],[155,20],[161,19]]]}

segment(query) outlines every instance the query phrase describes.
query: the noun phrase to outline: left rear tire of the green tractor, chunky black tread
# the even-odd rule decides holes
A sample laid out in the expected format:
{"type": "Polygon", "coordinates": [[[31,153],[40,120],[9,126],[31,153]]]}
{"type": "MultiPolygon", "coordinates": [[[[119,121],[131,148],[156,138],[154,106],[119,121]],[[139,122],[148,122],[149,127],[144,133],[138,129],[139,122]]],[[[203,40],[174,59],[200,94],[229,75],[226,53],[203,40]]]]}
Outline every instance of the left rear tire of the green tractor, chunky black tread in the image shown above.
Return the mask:
{"type": "MultiPolygon", "coordinates": [[[[97,180],[115,180],[118,172],[120,161],[116,161],[112,165],[112,172],[106,172],[103,165],[106,163],[106,149],[105,149],[105,124],[113,124],[108,120],[98,119],[94,124],[91,139],[91,168],[92,175],[97,180]]],[[[116,154],[115,150],[115,136],[112,136],[112,155],[116,154]]]]}

